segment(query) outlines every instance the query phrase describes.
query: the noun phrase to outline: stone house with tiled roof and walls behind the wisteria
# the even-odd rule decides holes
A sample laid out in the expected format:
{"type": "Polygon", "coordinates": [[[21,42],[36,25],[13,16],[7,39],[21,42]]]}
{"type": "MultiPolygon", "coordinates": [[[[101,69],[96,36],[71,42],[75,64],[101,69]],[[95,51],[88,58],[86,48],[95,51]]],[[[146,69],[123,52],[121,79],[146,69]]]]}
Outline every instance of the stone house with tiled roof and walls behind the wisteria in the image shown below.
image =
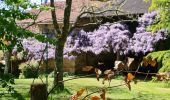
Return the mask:
{"type": "MultiPolygon", "coordinates": [[[[123,2],[124,0],[115,0],[115,1],[117,1],[116,3],[119,4],[119,3],[123,2]]],[[[76,21],[76,18],[80,14],[82,7],[94,6],[94,5],[97,5],[101,10],[106,9],[108,6],[110,6],[109,9],[113,9],[113,10],[117,9],[117,6],[109,5],[108,3],[101,2],[100,0],[73,0],[71,16],[70,16],[70,24],[73,24],[76,21]]],[[[149,5],[150,5],[150,2],[146,3],[143,0],[126,0],[125,2],[122,3],[121,8],[120,8],[120,10],[123,11],[122,13],[118,12],[116,14],[115,11],[110,11],[110,12],[105,12],[103,14],[99,14],[96,17],[99,19],[102,19],[101,23],[115,22],[115,21],[119,21],[121,19],[130,20],[134,17],[140,16],[143,13],[148,12],[149,5]],[[131,18],[129,16],[131,16],[131,18]]],[[[65,2],[64,1],[55,2],[55,6],[57,7],[57,10],[56,10],[57,20],[58,20],[59,26],[62,27],[63,26],[65,2]]],[[[32,9],[29,12],[36,14],[39,11],[32,9]]],[[[90,20],[91,20],[91,17],[89,17],[87,15],[87,16],[83,16],[79,20],[78,23],[83,25],[83,24],[87,24],[90,20]]],[[[22,26],[27,26],[28,24],[31,24],[32,22],[33,22],[33,20],[27,19],[27,20],[19,21],[18,24],[22,25],[22,26]]],[[[127,23],[131,27],[130,31],[135,31],[134,27],[137,26],[137,23],[130,22],[130,21],[129,22],[127,21],[127,23]]],[[[84,27],[84,29],[89,31],[89,30],[93,30],[97,26],[98,25],[89,25],[87,27],[84,27]]],[[[50,34],[50,37],[53,37],[54,36],[54,28],[52,25],[51,12],[50,11],[40,12],[40,14],[36,20],[36,24],[29,27],[29,30],[31,30],[35,33],[42,33],[42,34],[48,32],[48,34],[50,34]]],[[[106,56],[106,55],[104,55],[104,56],[106,56]]],[[[106,61],[109,61],[107,59],[108,57],[105,57],[105,58],[106,58],[105,59],[106,61]]],[[[113,56],[112,56],[112,58],[113,58],[113,56]]],[[[93,54],[82,54],[82,55],[78,56],[78,58],[75,61],[69,61],[68,59],[64,59],[64,68],[63,69],[66,72],[75,73],[75,72],[81,72],[82,67],[84,67],[84,66],[87,66],[87,65],[95,66],[95,64],[96,64],[96,58],[93,54]]],[[[53,68],[53,66],[54,66],[54,60],[50,60],[49,67],[53,68]]]]}

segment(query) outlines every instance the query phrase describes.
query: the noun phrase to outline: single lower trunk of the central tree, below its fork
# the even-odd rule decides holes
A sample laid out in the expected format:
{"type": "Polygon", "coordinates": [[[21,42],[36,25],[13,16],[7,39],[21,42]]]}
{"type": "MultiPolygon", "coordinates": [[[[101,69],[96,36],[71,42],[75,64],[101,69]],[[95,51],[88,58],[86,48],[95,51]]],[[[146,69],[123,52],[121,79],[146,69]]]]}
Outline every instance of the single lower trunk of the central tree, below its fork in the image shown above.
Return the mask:
{"type": "Polygon", "coordinates": [[[55,52],[55,61],[56,67],[54,69],[54,86],[56,86],[57,91],[64,90],[64,83],[63,81],[63,49],[64,49],[64,42],[59,41],[56,44],[56,52],[55,52]]]}

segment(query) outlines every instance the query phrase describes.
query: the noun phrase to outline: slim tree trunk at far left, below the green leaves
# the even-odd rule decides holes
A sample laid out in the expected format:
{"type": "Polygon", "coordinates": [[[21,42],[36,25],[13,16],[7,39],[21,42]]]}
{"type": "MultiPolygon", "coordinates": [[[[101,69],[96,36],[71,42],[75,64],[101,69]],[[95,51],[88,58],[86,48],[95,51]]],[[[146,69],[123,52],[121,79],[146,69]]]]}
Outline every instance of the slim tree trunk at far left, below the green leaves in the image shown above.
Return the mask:
{"type": "Polygon", "coordinates": [[[4,74],[9,73],[9,68],[11,67],[11,54],[9,51],[5,51],[4,53],[4,60],[5,60],[5,69],[4,69],[4,74]]]}

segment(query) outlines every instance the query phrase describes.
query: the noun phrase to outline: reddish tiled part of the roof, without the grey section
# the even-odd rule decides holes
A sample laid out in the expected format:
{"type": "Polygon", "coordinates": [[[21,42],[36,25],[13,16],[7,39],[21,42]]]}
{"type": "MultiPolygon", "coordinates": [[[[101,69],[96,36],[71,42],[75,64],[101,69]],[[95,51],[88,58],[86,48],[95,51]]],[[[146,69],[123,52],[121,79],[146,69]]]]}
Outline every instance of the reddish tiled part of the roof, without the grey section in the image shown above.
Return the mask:
{"type": "MultiPolygon", "coordinates": [[[[103,2],[91,1],[91,0],[73,0],[70,22],[74,22],[76,20],[76,17],[79,15],[81,8],[84,5],[88,5],[88,4],[96,4],[98,6],[101,6],[101,5],[103,5],[103,2]]],[[[49,5],[49,4],[47,4],[47,5],[49,5]]],[[[55,7],[56,7],[57,20],[59,23],[62,23],[63,17],[64,17],[65,1],[55,2],[55,7]]],[[[37,14],[39,12],[39,10],[32,9],[29,12],[37,14]]],[[[33,20],[26,19],[26,20],[19,21],[18,23],[30,23],[30,22],[33,22],[33,20]]],[[[39,24],[51,23],[52,22],[51,11],[50,10],[42,11],[39,14],[36,22],[38,22],[39,24]]]]}

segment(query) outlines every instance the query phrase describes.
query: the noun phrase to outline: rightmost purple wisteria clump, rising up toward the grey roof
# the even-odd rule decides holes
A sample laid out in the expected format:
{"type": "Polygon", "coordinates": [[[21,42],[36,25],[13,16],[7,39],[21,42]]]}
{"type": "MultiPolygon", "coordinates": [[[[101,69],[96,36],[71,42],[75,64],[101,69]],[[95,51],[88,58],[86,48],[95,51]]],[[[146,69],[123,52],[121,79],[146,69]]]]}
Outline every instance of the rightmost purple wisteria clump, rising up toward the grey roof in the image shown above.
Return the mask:
{"type": "Polygon", "coordinates": [[[156,44],[160,40],[165,40],[167,38],[167,31],[165,29],[158,29],[154,33],[147,30],[148,26],[154,24],[158,17],[159,13],[152,11],[138,18],[139,26],[136,28],[136,32],[130,39],[126,51],[127,53],[131,52],[136,55],[146,55],[147,53],[154,51],[156,44]]]}

